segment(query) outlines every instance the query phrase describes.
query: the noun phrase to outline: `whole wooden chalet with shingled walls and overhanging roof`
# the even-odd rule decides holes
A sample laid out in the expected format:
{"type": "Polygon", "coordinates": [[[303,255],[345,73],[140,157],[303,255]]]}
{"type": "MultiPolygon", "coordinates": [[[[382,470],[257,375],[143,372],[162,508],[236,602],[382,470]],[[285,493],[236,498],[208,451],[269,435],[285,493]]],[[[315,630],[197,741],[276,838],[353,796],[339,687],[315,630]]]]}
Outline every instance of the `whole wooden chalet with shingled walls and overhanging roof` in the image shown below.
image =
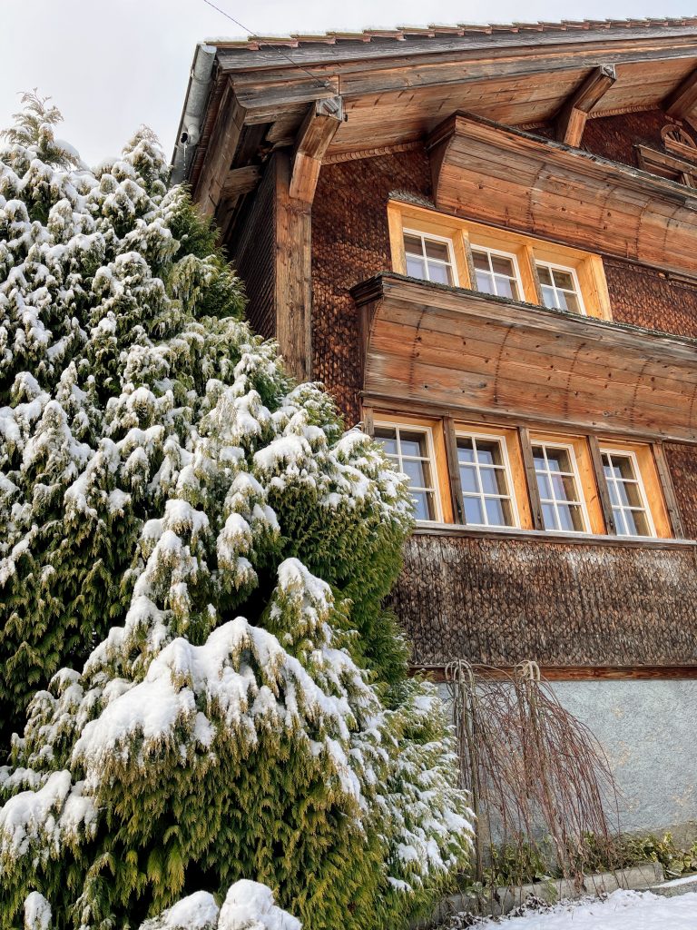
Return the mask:
{"type": "Polygon", "coordinates": [[[414,666],[536,659],[697,818],[697,19],[199,46],[174,167],[412,478],[414,666]]]}

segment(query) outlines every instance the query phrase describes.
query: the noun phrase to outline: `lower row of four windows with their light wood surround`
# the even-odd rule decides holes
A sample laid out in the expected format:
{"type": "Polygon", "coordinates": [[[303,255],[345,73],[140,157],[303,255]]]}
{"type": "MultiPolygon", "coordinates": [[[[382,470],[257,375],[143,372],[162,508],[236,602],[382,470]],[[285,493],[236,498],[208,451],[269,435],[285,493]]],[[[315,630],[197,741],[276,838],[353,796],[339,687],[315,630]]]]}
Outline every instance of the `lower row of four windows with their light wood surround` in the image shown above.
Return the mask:
{"type": "Polygon", "coordinates": [[[679,516],[676,523],[666,504],[672,487],[665,465],[659,468],[661,444],[385,409],[366,413],[368,432],[412,479],[417,522],[504,533],[682,537],[679,516]]]}

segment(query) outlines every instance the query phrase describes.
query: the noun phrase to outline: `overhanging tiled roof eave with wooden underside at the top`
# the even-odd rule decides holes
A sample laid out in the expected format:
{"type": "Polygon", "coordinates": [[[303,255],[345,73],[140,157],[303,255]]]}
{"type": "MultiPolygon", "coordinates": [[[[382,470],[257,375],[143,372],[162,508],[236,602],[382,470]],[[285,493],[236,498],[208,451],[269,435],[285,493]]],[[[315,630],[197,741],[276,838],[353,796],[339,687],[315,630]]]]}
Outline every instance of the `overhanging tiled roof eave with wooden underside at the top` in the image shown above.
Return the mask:
{"type": "Polygon", "coordinates": [[[201,138],[187,151],[186,176],[197,199],[216,209],[224,181],[212,178],[221,165],[259,164],[292,148],[309,106],[329,97],[341,96],[346,115],[329,160],[423,139],[457,110],[540,125],[603,65],[614,65],[617,79],[590,118],[658,107],[697,68],[697,20],[460,25],[211,45],[201,138]]]}

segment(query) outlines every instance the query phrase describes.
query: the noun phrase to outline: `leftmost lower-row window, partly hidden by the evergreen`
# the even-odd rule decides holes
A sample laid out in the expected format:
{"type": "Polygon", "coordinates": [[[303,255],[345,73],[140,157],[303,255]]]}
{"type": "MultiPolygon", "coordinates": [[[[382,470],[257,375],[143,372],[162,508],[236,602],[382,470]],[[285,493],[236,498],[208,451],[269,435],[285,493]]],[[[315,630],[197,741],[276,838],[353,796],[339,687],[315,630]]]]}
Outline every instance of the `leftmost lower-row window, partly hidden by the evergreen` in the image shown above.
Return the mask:
{"type": "Polygon", "coordinates": [[[402,424],[375,423],[374,435],[388,458],[409,478],[416,519],[441,519],[431,431],[402,424]]]}

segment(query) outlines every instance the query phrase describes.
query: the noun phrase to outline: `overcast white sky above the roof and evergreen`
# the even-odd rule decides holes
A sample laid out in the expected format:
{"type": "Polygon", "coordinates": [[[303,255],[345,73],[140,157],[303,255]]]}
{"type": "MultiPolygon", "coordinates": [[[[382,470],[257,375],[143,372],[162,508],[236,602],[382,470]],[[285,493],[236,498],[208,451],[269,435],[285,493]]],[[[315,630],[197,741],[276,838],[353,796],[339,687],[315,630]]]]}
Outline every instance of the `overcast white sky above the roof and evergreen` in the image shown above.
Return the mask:
{"type": "MultiPolygon", "coordinates": [[[[694,15],[697,0],[214,0],[257,34],[409,23],[694,15]]],[[[169,154],[197,42],[243,31],[204,0],[0,0],[0,127],[21,90],[50,94],[59,136],[85,161],[118,153],[146,123],[169,154]]]]}

